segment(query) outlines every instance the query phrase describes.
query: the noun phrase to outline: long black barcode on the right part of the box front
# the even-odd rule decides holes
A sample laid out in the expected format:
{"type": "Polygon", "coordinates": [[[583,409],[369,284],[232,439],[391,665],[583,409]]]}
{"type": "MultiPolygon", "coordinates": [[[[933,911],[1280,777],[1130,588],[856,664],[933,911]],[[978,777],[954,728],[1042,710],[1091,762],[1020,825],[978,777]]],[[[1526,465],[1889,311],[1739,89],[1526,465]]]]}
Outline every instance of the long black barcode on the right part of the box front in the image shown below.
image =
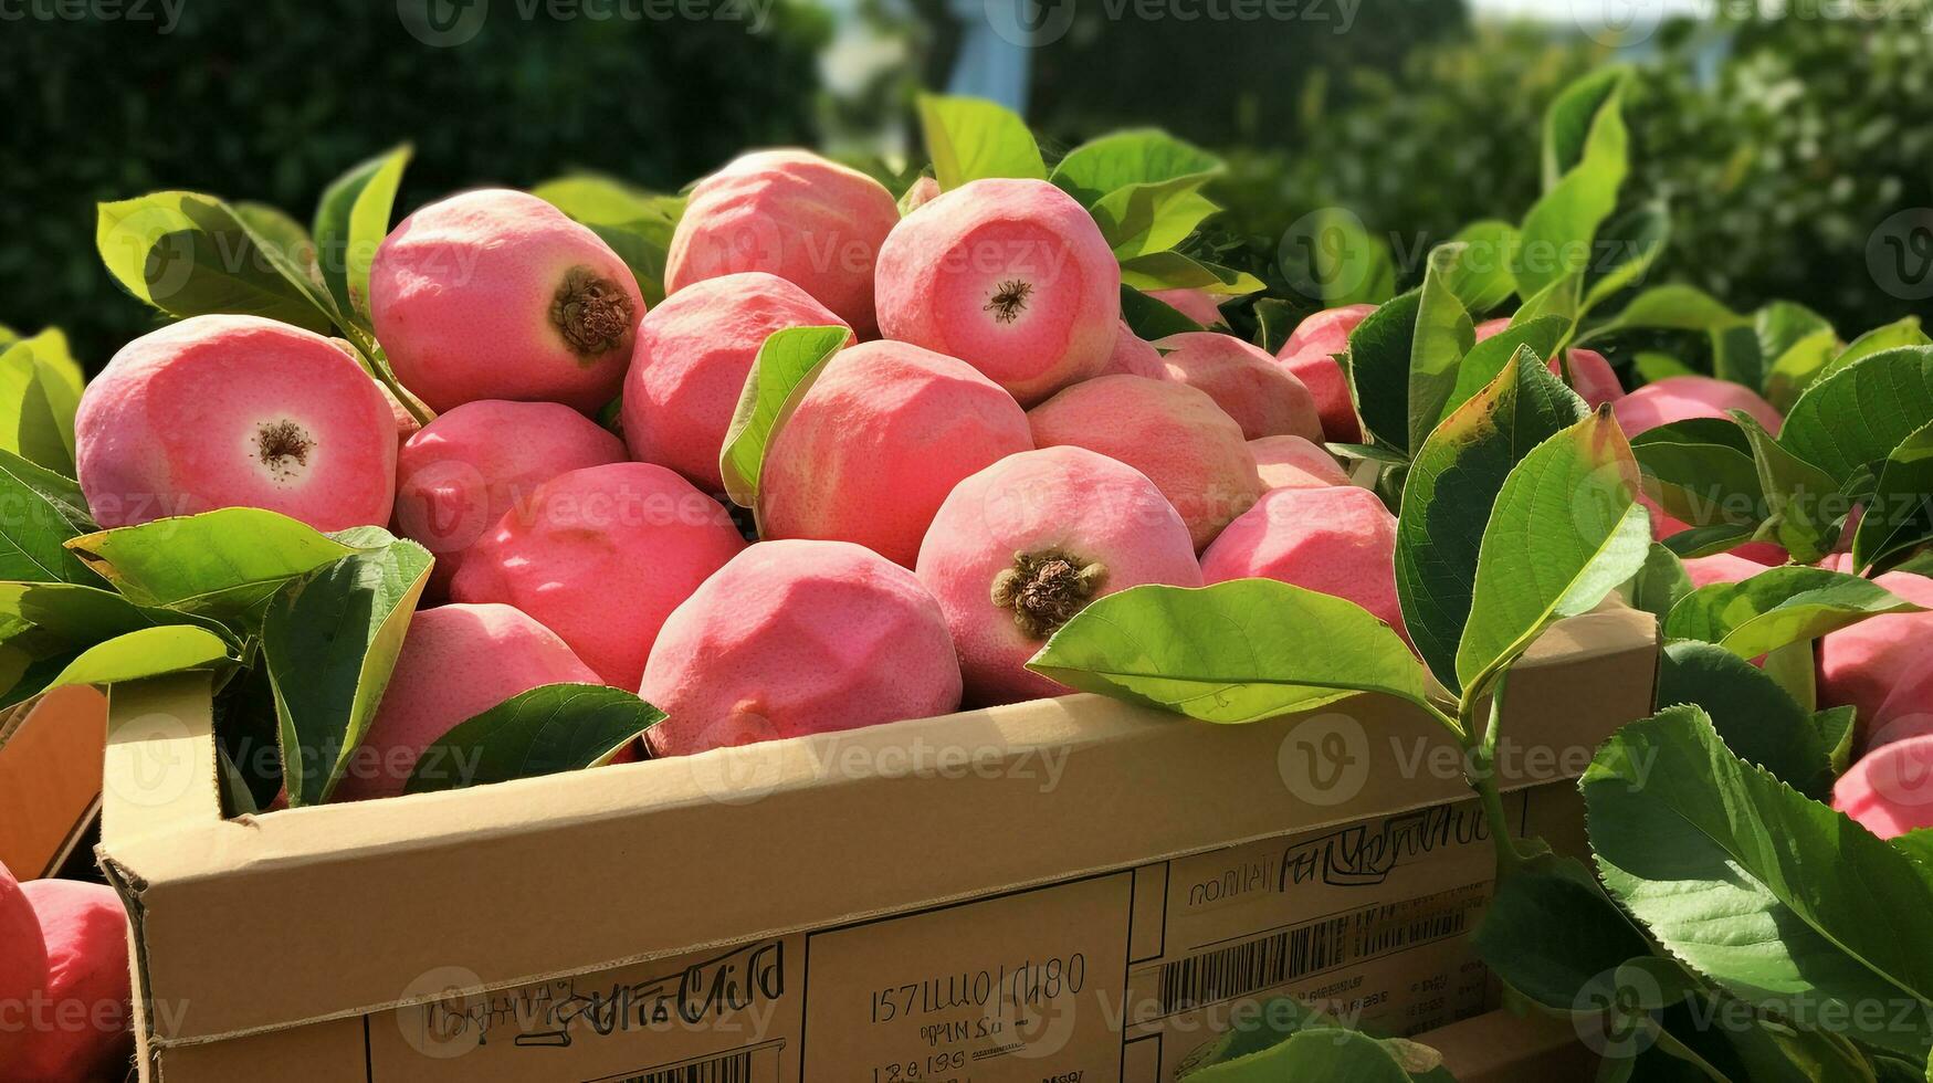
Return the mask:
{"type": "Polygon", "coordinates": [[[1486,897],[1486,884],[1469,884],[1399,903],[1320,917],[1162,963],[1162,1017],[1249,996],[1309,975],[1347,967],[1405,948],[1461,936],[1486,897]]]}

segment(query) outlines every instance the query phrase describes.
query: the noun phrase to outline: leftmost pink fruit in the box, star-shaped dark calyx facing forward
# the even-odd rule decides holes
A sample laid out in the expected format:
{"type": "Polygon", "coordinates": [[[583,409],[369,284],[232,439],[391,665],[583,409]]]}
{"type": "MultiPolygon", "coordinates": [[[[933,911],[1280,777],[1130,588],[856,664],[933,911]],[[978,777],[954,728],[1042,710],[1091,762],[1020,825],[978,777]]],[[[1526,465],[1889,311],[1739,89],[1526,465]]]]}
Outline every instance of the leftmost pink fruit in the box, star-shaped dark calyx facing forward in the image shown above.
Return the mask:
{"type": "Polygon", "coordinates": [[[300,327],[195,315],[122,346],[81,395],[75,462],[101,526],[259,507],[317,530],[389,522],[396,420],[300,327]]]}

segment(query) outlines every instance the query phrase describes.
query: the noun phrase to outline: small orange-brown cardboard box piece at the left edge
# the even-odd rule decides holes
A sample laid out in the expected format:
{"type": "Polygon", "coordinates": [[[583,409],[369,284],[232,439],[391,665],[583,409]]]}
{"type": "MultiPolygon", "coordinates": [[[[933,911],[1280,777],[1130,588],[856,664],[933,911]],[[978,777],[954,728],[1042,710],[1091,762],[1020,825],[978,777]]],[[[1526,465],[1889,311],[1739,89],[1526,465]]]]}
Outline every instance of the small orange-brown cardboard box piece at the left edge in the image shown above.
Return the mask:
{"type": "Polygon", "coordinates": [[[104,708],[56,688],[0,714],[0,863],[19,880],[58,872],[101,810],[104,708]]]}

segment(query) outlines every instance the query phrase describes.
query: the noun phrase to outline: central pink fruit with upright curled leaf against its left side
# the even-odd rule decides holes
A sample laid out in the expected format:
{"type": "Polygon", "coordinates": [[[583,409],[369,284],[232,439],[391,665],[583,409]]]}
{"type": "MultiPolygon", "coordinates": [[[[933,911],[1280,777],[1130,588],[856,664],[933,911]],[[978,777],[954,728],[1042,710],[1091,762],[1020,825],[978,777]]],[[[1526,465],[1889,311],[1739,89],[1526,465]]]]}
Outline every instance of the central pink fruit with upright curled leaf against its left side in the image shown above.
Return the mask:
{"type": "Polygon", "coordinates": [[[858,542],[912,567],[953,485],[1034,447],[1026,412],[972,369],[907,342],[833,354],[765,451],[765,538],[858,542]]]}

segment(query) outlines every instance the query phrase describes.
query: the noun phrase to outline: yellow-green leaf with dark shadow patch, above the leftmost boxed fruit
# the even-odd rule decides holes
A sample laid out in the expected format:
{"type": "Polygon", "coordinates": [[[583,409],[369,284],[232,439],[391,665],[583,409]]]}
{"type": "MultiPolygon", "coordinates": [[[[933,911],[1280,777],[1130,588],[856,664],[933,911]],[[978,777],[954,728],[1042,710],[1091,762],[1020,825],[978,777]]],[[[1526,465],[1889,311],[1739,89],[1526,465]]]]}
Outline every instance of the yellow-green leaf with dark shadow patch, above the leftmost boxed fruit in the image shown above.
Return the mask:
{"type": "Polygon", "coordinates": [[[213,195],[102,203],[95,246],[124,290],[168,315],[261,315],[317,333],[340,319],[321,284],[213,195]]]}

